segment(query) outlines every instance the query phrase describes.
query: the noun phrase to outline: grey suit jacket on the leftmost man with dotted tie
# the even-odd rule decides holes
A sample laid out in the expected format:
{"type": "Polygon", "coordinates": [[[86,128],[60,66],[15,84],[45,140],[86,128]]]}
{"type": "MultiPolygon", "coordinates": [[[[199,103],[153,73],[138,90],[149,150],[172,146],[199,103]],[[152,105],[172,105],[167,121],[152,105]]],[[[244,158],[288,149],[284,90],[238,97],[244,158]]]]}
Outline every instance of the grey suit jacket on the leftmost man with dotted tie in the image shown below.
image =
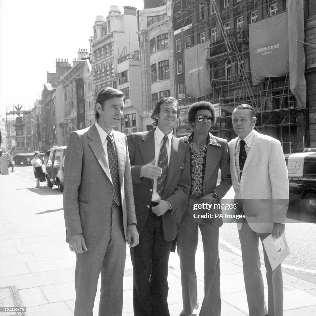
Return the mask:
{"type": "MultiPolygon", "coordinates": [[[[123,225],[136,223],[127,139],[113,131],[121,185],[123,225]]],[[[83,234],[88,250],[103,234],[113,199],[113,184],[100,135],[95,124],[70,134],[65,158],[64,217],[66,241],[83,234]]]]}

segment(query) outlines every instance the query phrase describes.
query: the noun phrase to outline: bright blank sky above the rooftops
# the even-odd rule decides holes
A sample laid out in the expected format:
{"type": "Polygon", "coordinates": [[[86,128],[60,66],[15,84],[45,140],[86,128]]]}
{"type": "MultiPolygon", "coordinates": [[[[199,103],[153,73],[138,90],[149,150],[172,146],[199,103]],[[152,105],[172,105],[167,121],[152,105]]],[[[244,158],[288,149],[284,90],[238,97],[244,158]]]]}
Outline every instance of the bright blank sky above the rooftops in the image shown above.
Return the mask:
{"type": "Polygon", "coordinates": [[[112,4],[143,9],[143,0],[0,0],[0,115],[23,104],[30,110],[56,72],[57,58],[72,63],[79,49],[89,51],[97,15],[112,4]]]}

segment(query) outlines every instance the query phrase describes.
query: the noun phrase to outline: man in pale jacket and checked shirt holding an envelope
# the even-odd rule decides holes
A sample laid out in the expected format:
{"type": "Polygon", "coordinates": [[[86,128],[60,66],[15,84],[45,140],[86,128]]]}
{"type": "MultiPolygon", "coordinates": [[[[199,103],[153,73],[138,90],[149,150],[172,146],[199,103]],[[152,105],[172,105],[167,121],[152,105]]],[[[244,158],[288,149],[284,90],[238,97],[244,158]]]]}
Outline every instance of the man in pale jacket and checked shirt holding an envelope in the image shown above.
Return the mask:
{"type": "Polygon", "coordinates": [[[241,244],[246,295],[250,316],[283,315],[283,280],[281,264],[271,270],[264,250],[269,293],[268,310],[260,271],[258,239],[269,234],[279,238],[289,198],[288,171],[281,143],[259,134],[253,128],[256,117],[252,106],[242,104],[233,111],[233,127],[237,138],[228,144],[230,174],[236,201],[243,201],[245,218],[237,222],[241,244]]]}

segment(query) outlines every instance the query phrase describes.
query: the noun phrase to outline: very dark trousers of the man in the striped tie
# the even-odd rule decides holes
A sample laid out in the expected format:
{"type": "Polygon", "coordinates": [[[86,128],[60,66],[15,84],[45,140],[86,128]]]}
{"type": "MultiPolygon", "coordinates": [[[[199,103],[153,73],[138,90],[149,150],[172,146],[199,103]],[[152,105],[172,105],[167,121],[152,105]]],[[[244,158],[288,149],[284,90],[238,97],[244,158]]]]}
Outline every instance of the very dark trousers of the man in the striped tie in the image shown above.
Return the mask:
{"type": "Polygon", "coordinates": [[[139,243],[131,248],[134,316],[170,316],[168,261],[171,241],[163,235],[162,216],[150,209],[139,243]]]}

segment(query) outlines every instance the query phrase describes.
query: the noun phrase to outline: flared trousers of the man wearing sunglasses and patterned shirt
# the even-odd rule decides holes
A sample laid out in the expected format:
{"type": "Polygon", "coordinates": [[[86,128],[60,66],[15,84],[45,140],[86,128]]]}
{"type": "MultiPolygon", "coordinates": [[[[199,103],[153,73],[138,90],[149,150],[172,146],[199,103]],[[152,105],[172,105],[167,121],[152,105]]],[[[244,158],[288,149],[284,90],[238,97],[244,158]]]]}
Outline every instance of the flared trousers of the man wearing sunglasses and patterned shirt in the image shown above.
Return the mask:
{"type": "Polygon", "coordinates": [[[178,228],[178,255],[180,258],[182,301],[184,315],[191,315],[197,305],[197,276],[195,253],[200,228],[204,251],[204,300],[200,316],[220,316],[220,266],[218,256],[219,228],[212,223],[180,225],[178,228]]]}

